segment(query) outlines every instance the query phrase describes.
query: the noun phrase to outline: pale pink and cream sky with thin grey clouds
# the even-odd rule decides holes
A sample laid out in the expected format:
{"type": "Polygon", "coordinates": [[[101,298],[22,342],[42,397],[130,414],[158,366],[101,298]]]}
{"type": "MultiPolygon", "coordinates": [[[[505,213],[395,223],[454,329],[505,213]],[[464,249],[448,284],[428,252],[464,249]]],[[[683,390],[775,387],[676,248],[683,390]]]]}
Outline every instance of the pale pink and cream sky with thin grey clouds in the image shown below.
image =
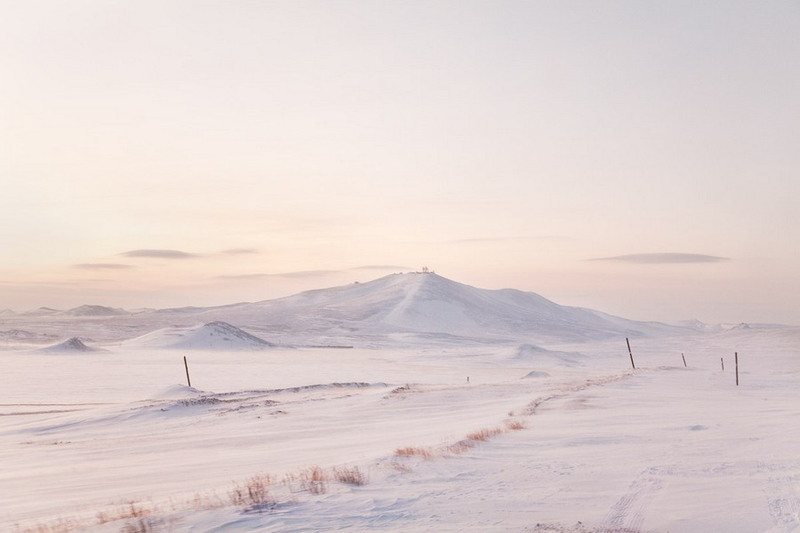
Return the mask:
{"type": "Polygon", "coordinates": [[[800,324],[796,0],[0,0],[0,309],[428,266],[800,324]]]}

